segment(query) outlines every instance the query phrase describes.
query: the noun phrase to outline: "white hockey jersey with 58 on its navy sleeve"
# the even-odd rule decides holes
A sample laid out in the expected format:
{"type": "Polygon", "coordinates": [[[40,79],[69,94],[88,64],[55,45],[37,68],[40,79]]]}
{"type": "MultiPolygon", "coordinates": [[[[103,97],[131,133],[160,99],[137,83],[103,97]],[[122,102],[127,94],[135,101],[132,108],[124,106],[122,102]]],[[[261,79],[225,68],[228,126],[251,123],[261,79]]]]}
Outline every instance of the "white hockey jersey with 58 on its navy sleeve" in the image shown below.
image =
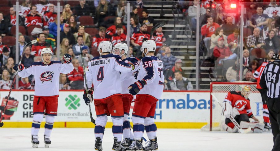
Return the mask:
{"type": "Polygon", "coordinates": [[[140,69],[137,80],[145,80],[145,85],[137,95],[146,94],[160,100],[163,92],[164,75],[162,61],[156,56],[146,56],[140,61],[140,69]]]}

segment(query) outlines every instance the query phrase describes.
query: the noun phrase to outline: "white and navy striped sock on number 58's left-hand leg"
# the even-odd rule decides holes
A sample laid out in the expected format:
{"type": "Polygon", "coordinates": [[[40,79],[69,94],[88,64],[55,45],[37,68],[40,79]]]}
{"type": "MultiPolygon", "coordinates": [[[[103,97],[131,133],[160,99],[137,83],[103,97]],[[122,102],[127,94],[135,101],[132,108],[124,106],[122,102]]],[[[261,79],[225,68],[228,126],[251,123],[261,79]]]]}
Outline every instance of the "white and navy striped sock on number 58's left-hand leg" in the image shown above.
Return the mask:
{"type": "Polygon", "coordinates": [[[133,135],[135,140],[141,140],[144,134],[145,126],[144,126],[144,118],[132,116],[131,118],[133,122],[133,135]]]}

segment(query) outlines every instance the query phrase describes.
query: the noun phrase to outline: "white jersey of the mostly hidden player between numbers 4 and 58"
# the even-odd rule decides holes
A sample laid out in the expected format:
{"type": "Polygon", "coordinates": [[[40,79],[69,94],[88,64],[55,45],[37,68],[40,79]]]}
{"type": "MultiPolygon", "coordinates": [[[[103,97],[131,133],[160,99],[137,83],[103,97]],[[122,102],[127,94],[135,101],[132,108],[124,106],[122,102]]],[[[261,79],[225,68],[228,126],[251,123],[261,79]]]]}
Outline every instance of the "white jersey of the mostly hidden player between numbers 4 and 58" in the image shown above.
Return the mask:
{"type": "Polygon", "coordinates": [[[133,71],[120,73],[121,88],[123,91],[122,94],[129,94],[128,87],[130,84],[133,84],[135,82],[134,72],[137,71],[140,68],[140,66],[138,60],[134,57],[125,58],[123,59],[123,61],[131,62],[135,65],[135,69],[133,71]]]}

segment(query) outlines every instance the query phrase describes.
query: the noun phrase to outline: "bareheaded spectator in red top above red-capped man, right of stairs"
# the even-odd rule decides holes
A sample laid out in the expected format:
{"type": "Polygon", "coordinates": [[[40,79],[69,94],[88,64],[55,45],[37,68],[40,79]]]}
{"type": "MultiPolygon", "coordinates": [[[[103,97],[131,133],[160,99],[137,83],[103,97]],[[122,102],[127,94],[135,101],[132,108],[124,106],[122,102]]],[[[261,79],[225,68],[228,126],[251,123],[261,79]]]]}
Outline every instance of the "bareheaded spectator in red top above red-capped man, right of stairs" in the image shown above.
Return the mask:
{"type": "Polygon", "coordinates": [[[205,46],[207,48],[207,51],[210,50],[210,40],[211,40],[211,35],[214,34],[214,32],[216,31],[216,29],[220,27],[219,24],[217,24],[216,22],[213,22],[213,18],[212,16],[207,17],[207,24],[204,24],[201,27],[201,35],[203,37],[205,37],[203,39],[205,46]]]}

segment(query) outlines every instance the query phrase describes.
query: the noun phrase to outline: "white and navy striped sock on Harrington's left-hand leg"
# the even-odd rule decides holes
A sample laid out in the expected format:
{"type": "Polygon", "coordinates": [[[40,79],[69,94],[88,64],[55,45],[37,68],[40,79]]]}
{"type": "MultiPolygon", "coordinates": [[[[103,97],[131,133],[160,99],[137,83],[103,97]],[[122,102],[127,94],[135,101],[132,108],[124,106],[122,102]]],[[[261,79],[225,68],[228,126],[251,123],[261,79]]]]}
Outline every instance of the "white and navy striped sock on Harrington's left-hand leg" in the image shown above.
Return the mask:
{"type": "Polygon", "coordinates": [[[103,139],[104,131],[105,131],[105,125],[107,123],[107,115],[104,116],[97,116],[95,120],[95,128],[94,128],[94,135],[96,137],[100,137],[101,141],[103,139]]]}

